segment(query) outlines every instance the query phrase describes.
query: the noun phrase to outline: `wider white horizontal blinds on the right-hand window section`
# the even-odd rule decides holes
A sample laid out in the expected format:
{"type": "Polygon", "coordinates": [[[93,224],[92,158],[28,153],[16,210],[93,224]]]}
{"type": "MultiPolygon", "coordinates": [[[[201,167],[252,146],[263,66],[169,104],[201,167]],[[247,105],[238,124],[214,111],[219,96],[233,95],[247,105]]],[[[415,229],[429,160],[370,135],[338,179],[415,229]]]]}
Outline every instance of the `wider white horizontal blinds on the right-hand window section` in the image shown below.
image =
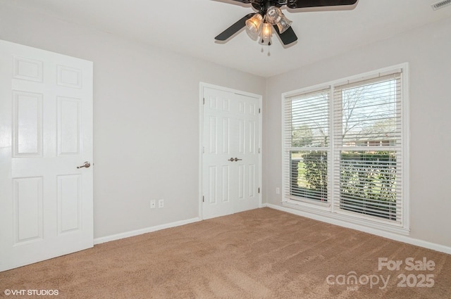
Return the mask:
{"type": "Polygon", "coordinates": [[[335,210],[402,219],[401,73],[335,87],[335,210]]]}

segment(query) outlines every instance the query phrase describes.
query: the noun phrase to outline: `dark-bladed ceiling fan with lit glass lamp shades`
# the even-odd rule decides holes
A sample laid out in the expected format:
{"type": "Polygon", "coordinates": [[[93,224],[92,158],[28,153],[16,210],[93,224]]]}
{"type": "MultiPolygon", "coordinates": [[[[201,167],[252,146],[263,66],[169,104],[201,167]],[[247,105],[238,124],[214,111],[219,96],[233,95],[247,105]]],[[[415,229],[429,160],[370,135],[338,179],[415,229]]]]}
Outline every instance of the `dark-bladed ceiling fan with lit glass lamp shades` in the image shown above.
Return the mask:
{"type": "Polygon", "coordinates": [[[271,45],[271,27],[276,31],[283,44],[288,45],[297,41],[297,36],[291,27],[291,20],[282,13],[280,7],[288,8],[309,8],[321,6],[352,6],[358,0],[233,0],[243,4],[251,4],[257,13],[249,13],[214,39],[226,41],[243,27],[257,37],[261,37],[261,42],[271,45]]]}

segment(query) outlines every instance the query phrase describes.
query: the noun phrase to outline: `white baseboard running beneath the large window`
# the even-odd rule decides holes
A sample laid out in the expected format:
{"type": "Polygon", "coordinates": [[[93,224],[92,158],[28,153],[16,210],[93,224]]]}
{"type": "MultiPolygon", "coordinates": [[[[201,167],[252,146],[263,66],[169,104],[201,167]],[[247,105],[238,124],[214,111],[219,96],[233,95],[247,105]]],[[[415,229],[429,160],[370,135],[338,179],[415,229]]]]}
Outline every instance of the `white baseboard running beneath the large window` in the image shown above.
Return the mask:
{"type": "Polygon", "coordinates": [[[272,208],[275,210],[280,210],[283,212],[289,212],[291,214],[295,214],[298,216],[302,216],[302,217],[306,217],[306,218],[310,218],[313,220],[318,220],[321,222],[326,222],[329,224],[335,224],[338,225],[339,227],[346,227],[348,229],[356,229],[357,231],[364,231],[366,233],[369,234],[373,234],[376,236],[382,236],[383,238],[390,238],[392,240],[395,241],[400,241],[403,243],[408,243],[408,244],[412,244],[414,246],[419,246],[419,247],[424,247],[424,248],[428,248],[428,249],[432,249],[435,251],[439,251],[441,253],[447,253],[447,254],[451,254],[451,247],[448,246],[444,246],[444,245],[440,245],[440,244],[436,244],[436,243],[431,243],[428,241],[424,241],[424,240],[419,240],[417,238],[411,238],[409,236],[403,236],[403,235],[398,235],[398,234],[393,234],[387,231],[381,231],[378,229],[371,229],[369,227],[364,227],[362,225],[359,224],[352,224],[352,223],[347,223],[347,222],[343,222],[340,220],[335,220],[335,219],[331,219],[328,217],[323,217],[321,215],[310,215],[307,212],[302,212],[300,210],[294,210],[291,208],[285,208],[285,207],[281,207],[280,205],[273,205],[271,203],[267,203],[266,206],[268,208],[272,208]]]}

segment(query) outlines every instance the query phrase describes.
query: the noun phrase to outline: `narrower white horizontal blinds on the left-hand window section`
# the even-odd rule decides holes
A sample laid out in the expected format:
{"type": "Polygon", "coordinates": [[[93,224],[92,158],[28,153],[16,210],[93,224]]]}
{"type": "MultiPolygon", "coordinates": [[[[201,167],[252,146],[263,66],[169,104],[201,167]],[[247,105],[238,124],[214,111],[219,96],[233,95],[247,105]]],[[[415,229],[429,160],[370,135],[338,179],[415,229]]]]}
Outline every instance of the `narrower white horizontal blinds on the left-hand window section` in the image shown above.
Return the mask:
{"type": "Polygon", "coordinates": [[[285,193],[294,199],[328,200],[330,89],[285,99],[285,193]]]}

